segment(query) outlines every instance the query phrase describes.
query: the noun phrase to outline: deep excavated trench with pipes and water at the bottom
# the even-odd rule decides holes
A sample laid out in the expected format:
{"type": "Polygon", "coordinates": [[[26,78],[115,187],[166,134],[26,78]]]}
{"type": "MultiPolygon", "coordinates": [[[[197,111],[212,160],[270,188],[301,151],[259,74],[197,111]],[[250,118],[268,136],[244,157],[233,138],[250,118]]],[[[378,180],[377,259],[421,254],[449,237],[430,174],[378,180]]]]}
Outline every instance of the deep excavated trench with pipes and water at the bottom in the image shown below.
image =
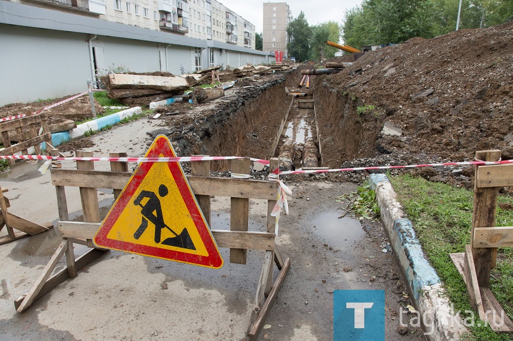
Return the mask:
{"type": "Polygon", "coordinates": [[[270,78],[244,79],[224,98],[174,122],[177,152],[279,157],[281,170],[338,167],[374,153],[379,125],[359,117],[357,102],[325,77],[312,76],[309,89],[299,87],[300,69],[270,78]]]}

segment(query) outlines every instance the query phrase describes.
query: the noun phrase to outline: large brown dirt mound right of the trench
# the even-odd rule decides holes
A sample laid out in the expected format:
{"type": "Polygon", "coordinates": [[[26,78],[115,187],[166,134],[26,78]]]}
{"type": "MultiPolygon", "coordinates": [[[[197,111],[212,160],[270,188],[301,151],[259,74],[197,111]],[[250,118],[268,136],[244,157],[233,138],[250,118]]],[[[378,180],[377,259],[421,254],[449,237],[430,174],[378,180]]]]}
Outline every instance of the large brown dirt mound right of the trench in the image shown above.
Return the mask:
{"type": "Polygon", "coordinates": [[[365,137],[390,152],[463,161],[500,147],[506,158],[513,148],[511,41],[513,22],[412,38],[366,53],[347,71],[319,80],[348,94],[358,108],[374,105],[363,119],[402,129],[402,136],[369,130],[365,137]]]}

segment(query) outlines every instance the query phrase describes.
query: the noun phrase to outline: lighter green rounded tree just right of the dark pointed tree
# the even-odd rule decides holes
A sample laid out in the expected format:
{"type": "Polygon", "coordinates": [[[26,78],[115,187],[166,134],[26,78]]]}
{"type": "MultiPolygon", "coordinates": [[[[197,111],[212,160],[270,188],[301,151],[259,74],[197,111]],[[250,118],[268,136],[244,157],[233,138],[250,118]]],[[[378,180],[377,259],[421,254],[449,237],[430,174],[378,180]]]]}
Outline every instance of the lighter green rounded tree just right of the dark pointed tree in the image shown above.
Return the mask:
{"type": "Polygon", "coordinates": [[[317,26],[312,26],[312,37],[310,39],[310,59],[321,60],[335,56],[339,49],[327,46],[326,40],[339,42],[339,24],[336,22],[326,22],[317,26]]]}

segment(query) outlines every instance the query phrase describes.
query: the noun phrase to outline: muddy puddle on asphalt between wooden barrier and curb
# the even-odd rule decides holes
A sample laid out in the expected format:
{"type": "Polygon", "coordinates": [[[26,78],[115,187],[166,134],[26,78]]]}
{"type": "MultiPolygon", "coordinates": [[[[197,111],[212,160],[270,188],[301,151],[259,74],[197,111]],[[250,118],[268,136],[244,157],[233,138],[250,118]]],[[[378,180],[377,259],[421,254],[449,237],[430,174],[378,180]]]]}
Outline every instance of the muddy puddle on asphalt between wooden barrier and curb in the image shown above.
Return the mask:
{"type": "Polygon", "coordinates": [[[330,246],[344,249],[363,237],[364,230],[358,220],[339,217],[339,212],[328,211],[313,215],[310,221],[315,232],[328,240],[330,246]]]}

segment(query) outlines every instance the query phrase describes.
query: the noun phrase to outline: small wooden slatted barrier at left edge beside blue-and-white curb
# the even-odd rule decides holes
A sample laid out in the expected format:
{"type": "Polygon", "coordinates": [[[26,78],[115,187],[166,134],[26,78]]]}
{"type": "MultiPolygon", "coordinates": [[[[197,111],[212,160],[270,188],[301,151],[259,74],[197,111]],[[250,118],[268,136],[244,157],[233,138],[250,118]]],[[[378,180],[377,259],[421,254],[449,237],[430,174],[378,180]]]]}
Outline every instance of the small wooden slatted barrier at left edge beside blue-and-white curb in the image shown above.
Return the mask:
{"type": "MultiPolygon", "coordinates": [[[[0,151],[0,155],[14,155],[15,153],[22,152],[23,155],[28,155],[28,148],[34,147],[35,153],[41,154],[40,143],[46,142],[48,145],[52,143],[52,134],[48,128],[47,114],[41,113],[37,115],[18,118],[12,121],[0,123],[0,133],[2,134],[2,143],[4,149],[0,151]],[[42,133],[38,134],[36,124],[41,124],[42,133]],[[23,131],[23,129],[28,131],[23,131]],[[16,140],[18,143],[11,145],[11,137],[9,132],[16,132],[16,140]]],[[[9,165],[13,165],[14,160],[9,160],[9,165]]]]}

